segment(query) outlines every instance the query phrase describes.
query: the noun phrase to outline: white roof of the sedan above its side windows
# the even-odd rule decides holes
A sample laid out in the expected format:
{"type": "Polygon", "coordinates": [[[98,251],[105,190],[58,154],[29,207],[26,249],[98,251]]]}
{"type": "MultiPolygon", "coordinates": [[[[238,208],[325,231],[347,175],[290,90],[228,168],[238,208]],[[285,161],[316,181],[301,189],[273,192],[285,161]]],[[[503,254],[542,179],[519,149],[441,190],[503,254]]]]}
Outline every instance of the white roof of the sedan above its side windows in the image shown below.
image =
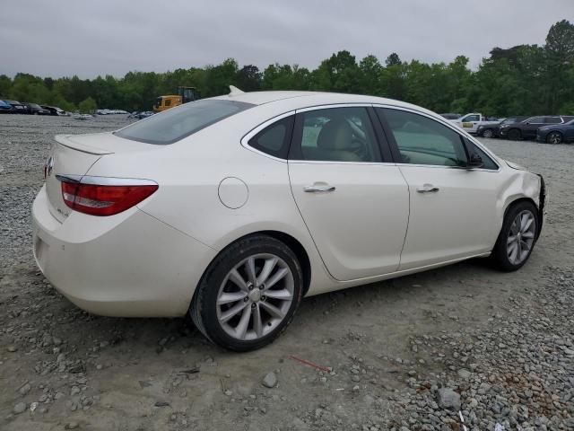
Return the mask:
{"type": "Polygon", "coordinates": [[[289,105],[290,109],[303,109],[311,106],[340,103],[373,103],[408,108],[426,112],[433,116],[438,116],[438,114],[431,110],[426,110],[420,106],[406,103],[404,101],[340,92],[236,92],[224,96],[213,97],[212,99],[242,101],[254,105],[264,105],[267,103],[284,104],[286,106],[289,105]]]}

